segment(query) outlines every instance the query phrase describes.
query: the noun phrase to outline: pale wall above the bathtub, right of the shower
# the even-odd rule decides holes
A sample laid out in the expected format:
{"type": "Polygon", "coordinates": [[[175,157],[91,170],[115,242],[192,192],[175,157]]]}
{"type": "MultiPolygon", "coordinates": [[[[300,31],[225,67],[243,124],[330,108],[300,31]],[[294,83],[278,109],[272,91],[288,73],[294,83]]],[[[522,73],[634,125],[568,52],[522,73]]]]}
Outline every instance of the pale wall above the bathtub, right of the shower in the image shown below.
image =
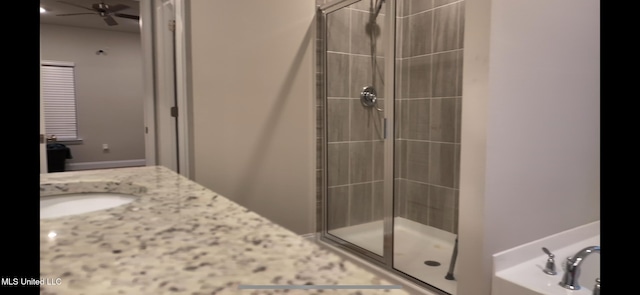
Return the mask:
{"type": "Polygon", "coordinates": [[[466,1],[458,294],[491,255],[600,219],[596,0],[466,1]]]}

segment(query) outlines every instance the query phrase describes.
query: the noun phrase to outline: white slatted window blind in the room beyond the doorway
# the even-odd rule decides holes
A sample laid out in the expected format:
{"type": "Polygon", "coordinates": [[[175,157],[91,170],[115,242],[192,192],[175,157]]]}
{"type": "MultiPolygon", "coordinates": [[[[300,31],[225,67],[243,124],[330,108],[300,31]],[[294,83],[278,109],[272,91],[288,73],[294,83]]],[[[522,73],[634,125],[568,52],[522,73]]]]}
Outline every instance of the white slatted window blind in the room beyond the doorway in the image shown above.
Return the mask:
{"type": "Polygon", "coordinates": [[[47,136],[78,139],[75,75],[72,63],[42,63],[42,98],[47,136]]]}

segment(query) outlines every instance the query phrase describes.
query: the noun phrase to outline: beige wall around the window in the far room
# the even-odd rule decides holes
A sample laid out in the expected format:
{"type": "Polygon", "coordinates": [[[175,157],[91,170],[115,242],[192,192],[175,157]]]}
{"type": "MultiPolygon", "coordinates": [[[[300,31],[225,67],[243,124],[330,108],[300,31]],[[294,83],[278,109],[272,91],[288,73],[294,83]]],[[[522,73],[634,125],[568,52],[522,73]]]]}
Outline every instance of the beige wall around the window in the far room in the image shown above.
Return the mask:
{"type": "Polygon", "coordinates": [[[144,160],[140,34],[41,24],[40,41],[42,59],[76,65],[83,143],[67,145],[67,163],[144,160]],[[100,49],[107,54],[97,55],[100,49]]]}

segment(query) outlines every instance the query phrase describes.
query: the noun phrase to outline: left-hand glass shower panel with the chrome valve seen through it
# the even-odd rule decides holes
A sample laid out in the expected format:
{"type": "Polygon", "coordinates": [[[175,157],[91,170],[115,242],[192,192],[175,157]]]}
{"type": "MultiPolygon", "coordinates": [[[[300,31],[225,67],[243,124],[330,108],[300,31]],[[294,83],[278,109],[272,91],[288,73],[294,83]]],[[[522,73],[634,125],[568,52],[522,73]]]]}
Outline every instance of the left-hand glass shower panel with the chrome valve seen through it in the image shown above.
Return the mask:
{"type": "Polygon", "coordinates": [[[327,238],[381,260],[385,24],[378,1],[351,1],[325,18],[324,222],[327,238]]]}

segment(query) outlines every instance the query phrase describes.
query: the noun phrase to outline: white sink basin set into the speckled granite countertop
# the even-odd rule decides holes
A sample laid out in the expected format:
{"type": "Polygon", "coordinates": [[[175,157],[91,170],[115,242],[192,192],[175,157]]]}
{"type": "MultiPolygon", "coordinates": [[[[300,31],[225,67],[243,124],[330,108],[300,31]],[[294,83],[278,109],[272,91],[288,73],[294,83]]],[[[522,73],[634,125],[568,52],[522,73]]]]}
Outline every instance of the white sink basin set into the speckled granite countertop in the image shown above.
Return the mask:
{"type": "Polygon", "coordinates": [[[109,209],[130,203],[137,196],[123,193],[69,193],[40,198],[40,218],[55,218],[109,209]]]}

